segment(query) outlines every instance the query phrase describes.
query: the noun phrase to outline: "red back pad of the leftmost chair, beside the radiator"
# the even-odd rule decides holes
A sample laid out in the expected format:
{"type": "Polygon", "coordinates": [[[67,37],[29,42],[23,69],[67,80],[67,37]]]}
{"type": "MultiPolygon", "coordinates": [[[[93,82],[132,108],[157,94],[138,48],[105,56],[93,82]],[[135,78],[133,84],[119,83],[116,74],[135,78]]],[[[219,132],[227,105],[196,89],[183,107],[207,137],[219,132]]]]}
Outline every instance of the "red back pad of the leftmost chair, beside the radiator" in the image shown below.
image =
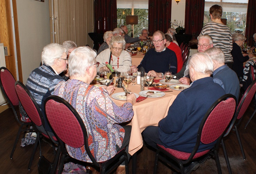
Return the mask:
{"type": "Polygon", "coordinates": [[[1,82],[6,95],[14,106],[19,104],[19,99],[15,91],[15,79],[11,75],[10,71],[1,71],[1,82]]]}

